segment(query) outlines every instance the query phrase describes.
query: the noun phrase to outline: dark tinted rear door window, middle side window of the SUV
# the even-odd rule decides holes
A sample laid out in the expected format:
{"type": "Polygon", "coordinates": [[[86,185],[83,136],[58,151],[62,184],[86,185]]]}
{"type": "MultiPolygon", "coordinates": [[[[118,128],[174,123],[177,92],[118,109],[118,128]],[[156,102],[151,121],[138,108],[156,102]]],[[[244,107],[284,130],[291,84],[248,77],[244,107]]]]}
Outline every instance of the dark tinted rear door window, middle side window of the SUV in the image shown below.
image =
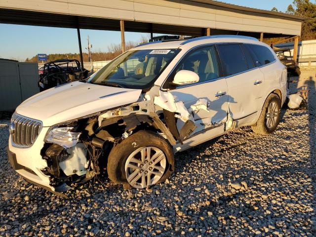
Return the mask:
{"type": "Polygon", "coordinates": [[[248,70],[248,65],[239,44],[217,46],[227,76],[248,70]]]}

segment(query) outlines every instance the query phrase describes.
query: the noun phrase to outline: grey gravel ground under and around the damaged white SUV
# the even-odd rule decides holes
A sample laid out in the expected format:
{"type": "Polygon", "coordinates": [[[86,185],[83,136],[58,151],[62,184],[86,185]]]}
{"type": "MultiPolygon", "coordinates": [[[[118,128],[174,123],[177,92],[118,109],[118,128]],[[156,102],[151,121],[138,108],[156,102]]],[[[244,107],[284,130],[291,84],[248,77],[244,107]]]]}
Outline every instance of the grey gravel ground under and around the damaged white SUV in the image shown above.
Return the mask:
{"type": "Polygon", "coordinates": [[[65,199],[28,184],[7,162],[0,125],[0,236],[316,236],[315,81],[303,71],[293,90],[310,85],[309,111],[282,110],[272,135],[244,127],[203,143],[142,191],[105,180],[65,199]]]}

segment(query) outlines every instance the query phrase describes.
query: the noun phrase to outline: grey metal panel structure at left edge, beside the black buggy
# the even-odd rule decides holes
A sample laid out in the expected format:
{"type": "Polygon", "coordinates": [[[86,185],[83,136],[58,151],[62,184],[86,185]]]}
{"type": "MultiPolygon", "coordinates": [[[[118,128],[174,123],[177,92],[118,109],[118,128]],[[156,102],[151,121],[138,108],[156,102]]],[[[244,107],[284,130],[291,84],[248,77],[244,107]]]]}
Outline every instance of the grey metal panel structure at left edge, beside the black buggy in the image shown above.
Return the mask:
{"type": "Polygon", "coordinates": [[[37,63],[0,59],[0,111],[12,111],[30,96],[40,92],[37,63]]]}

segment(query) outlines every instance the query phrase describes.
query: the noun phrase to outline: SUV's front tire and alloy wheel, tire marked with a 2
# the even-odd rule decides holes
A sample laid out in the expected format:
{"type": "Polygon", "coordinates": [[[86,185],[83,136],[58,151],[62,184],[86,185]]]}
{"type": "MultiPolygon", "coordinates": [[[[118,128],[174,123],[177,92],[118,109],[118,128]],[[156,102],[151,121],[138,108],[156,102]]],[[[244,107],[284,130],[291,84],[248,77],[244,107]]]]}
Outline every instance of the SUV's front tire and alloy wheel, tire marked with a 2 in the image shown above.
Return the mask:
{"type": "Polygon", "coordinates": [[[145,130],[130,135],[114,146],[107,164],[110,180],[116,184],[123,184],[124,188],[144,189],[164,182],[173,170],[174,158],[171,145],[163,137],[145,130]],[[153,160],[147,157],[147,151],[150,151],[149,154],[153,160]],[[144,160],[141,158],[141,154],[144,154],[144,160]],[[154,158],[155,154],[156,156],[160,155],[154,158]],[[138,160],[137,163],[134,162],[135,159],[138,160]],[[155,164],[158,159],[161,160],[155,164]],[[135,176],[133,176],[134,172],[136,173],[135,176]],[[138,177],[139,180],[136,180],[138,177]]]}

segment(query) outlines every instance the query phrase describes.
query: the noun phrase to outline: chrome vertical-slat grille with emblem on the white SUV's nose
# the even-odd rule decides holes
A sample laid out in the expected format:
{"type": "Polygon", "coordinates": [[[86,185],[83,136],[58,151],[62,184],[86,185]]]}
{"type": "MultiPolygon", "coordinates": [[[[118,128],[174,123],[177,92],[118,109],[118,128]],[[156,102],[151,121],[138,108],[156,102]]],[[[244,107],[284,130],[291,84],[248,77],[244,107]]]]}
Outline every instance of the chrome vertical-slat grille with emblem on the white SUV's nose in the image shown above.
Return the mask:
{"type": "Polygon", "coordinates": [[[18,147],[31,146],[38,137],[43,124],[40,120],[13,114],[10,124],[12,143],[18,147]]]}

